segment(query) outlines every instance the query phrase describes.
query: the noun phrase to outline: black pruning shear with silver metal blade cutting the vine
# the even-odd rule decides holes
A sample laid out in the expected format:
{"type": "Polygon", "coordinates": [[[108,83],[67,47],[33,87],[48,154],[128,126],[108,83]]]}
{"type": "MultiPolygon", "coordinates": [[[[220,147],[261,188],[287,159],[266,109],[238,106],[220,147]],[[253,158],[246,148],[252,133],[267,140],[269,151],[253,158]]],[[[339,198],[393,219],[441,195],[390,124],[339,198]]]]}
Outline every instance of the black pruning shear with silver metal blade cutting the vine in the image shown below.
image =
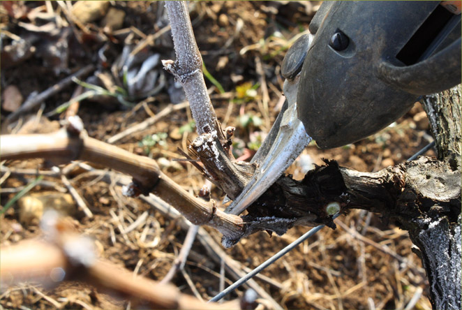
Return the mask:
{"type": "Polygon", "coordinates": [[[348,145],[391,124],[422,95],[459,84],[460,3],[323,2],[311,34],[284,57],[283,109],[253,157],[255,174],[225,212],[255,202],[311,137],[323,149],[348,145]]]}

